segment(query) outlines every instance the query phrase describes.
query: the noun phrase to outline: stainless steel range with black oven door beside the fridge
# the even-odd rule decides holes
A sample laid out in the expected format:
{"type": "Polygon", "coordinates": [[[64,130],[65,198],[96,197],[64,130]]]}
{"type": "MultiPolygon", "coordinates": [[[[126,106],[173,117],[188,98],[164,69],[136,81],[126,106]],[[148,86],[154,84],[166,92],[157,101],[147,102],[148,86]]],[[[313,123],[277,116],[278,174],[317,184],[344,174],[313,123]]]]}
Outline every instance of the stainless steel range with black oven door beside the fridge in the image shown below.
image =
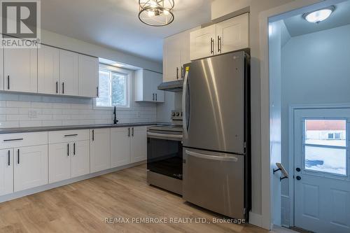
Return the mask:
{"type": "Polygon", "coordinates": [[[147,182],[182,194],[182,111],[172,111],[172,125],[148,127],[147,182]]]}

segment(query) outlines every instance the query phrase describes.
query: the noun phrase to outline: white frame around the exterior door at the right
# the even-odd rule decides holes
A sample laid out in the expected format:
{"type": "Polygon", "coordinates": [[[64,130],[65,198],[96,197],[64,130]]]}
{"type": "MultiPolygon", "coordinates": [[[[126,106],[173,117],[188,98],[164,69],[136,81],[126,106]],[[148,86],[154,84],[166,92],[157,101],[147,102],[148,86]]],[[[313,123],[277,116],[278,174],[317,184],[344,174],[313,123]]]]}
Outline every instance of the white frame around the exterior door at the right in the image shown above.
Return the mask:
{"type": "Polygon", "coordinates": [[[288,179],[288,186],[289,186],[289,209],[290,209],[290,216],[289,216],[289,226],[288,227],[294,227],[295,226],[295,201],[294,201],[294,160],[295,160],[295,154],[294,154],[294,113],[295,110],[302,110],[302,109],[331,109],[331,108],[349,108],[350,104],[300,104],[300,105],[290,105],[288,107],[288,174],[290,178],[288,179]]]}

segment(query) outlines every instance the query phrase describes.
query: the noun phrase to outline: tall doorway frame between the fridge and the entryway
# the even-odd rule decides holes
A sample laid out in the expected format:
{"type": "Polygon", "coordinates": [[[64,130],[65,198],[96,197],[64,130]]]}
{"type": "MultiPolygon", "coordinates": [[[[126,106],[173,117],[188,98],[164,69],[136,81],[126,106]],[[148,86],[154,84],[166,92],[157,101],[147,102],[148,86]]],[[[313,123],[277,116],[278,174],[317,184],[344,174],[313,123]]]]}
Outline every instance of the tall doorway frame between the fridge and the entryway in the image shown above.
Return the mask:
{"type": "MultiPolygon", "coordinates": [[[[270,78],[269,78],[269,22],[282,20],[283,18],[299,15],[307,11],[323,8],[332,4],[342,2],[344,0],[295,0],[275,8],[262,11],[259,14],[258,29],[260,35],[260,45],[252,47],[251,55],[253,59],[258,59],[258,64],[252,69],[260,69],[257,73],[260,74],[260,152],[261,152],[261,215],[256,215],[251,211],[249,223],[258,225],[267,230],[272,230],[274,227],[274,216],[281,214],[281,204],[279,204],[279,213],[274,213],[276,209],[274,203],[274,187],[271,164],[271,140],[270,140],[270,78]],[[259,53],[260,52],[260,61],[259,53]],[[260,63],[260,64],[259,64],[260,63]]],[[[253,72],[254,73],[254,72],[253,72]]],[[[281,195],[281,193],[279,193],[281,195]]],[[[253,200],[254,201],[254,200],[253,200]]],[[[294,213],[293,213],[294,216],[294,213]]]]}

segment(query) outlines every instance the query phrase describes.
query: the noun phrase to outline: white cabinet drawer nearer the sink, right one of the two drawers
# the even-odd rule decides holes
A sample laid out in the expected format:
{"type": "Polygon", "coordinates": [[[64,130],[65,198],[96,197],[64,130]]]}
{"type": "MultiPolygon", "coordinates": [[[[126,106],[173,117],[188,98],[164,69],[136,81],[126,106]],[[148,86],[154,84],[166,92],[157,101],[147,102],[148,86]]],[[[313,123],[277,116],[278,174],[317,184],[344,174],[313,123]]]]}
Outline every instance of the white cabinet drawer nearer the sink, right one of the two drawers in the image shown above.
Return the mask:
{"type": "Polygon", "coordinates": [[[89,129],[48,132],[48,143],[89,140],[89,129]]]}

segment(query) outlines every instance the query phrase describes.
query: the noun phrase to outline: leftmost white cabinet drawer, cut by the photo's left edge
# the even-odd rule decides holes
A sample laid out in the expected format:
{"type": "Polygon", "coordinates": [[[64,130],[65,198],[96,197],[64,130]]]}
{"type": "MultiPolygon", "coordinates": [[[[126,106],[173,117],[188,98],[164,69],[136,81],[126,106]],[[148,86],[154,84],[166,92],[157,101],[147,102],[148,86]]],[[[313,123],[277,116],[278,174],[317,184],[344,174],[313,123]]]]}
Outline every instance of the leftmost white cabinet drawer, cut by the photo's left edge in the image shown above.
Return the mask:
{"type": "Polygon", "coordinates": [[[48,143],[48,132],[1,134],[0,149],[36,146],[48,143]]]}

